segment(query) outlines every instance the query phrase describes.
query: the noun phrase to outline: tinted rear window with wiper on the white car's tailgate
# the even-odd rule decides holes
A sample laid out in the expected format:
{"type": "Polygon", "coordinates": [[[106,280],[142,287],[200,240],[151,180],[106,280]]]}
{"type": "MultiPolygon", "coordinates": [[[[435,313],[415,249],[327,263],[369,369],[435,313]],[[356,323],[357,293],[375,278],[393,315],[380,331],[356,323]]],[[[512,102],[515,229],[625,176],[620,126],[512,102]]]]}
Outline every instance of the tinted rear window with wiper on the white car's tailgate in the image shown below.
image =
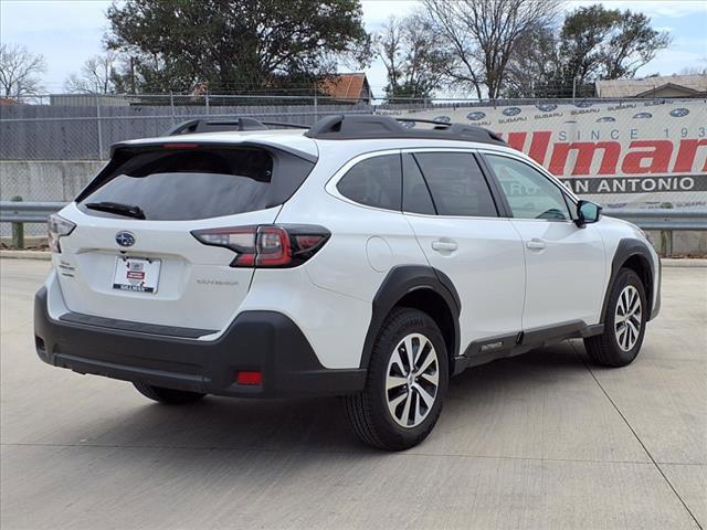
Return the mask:
{"type": "Polygon", "coordinates": [[[138,206],[146,220],[186,221],[276,206],[297,190],[314,163],[284,151],[199,147],[118,150],[80,195],[86,204],[138,206]]]}

